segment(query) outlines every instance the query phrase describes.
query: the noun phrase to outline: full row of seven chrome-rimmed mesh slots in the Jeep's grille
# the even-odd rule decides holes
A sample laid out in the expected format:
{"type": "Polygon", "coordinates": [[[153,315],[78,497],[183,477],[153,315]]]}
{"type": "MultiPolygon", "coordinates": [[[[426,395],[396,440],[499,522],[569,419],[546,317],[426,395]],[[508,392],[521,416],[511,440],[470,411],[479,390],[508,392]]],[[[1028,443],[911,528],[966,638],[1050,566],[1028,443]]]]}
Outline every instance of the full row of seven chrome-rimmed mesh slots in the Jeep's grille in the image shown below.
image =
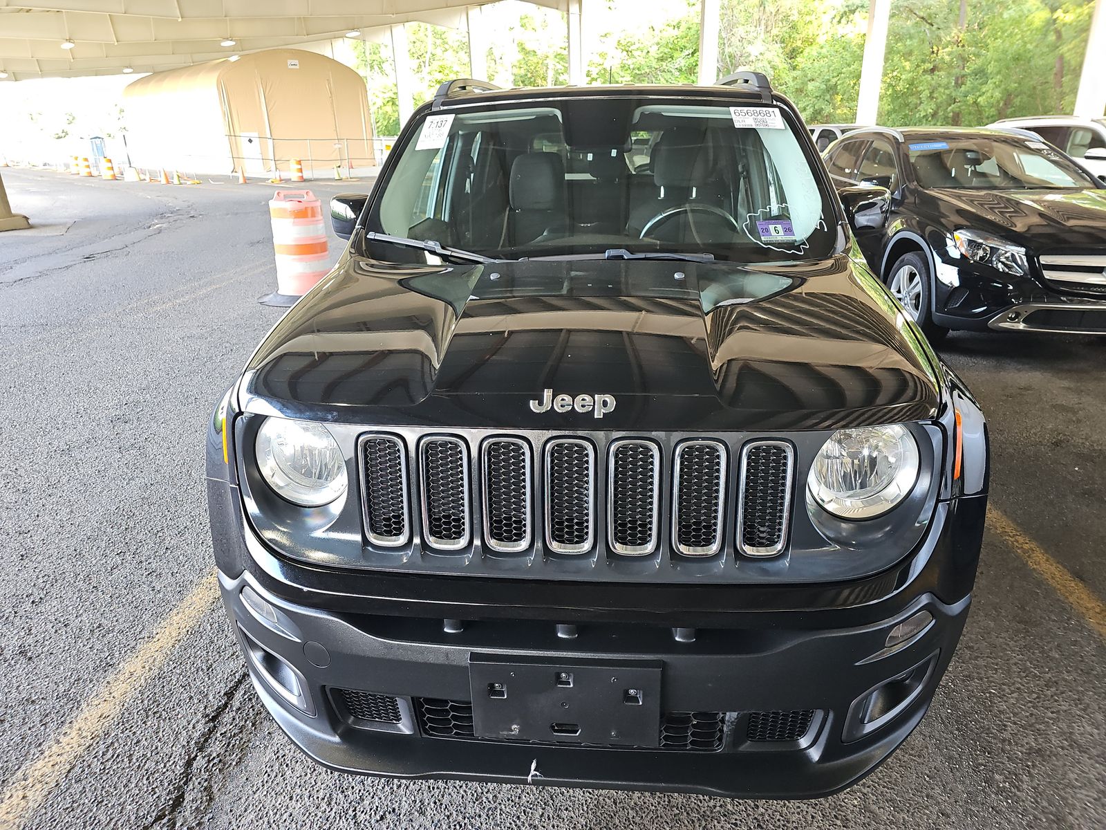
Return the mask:
{"type": "Polygon", "coordinates": [[[535,452],[525,438],[492,436],[479,446],[479,487],[473,487],[469,444],[462,438],[427,435],[410,449],[397,436],[368,434],[361,442],[366,536],[371,544],[401,547],[415,522],[430,548],[458,550],[472,540],[472,516],[480,511],[483,542],[492,551],[522,552],[540,537],[551,552],[573,556],[594,549],[597,511],[605,509],[609,549],[648,556],[662,542],[661,498],[670,477],[670,542],[679,554],[717,554],[729,505],[737,509],[738,551],[772,557],[785,549],[795,466],[791,444],[753,439],[742,445],[735,495],[727,491],[730,450],[720,440],[682,440],[668,453],[667,465],[661,447],[645,438],[619,437],[602,449],[604,483],[597,480],[601,457],[591,440],[555,437],[535,452]],[[533,504],[539,480],[540,511],[533,504]]]}

